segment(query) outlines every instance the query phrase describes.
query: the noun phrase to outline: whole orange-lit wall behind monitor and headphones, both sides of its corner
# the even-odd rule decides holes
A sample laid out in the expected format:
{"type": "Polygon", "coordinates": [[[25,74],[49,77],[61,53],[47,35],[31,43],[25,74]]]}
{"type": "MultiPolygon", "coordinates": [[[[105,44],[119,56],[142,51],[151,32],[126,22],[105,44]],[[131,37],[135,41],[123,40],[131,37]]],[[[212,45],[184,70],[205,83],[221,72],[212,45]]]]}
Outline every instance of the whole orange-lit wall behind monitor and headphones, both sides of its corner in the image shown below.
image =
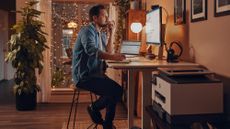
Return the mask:
{"type": "Polygon", "coordinates": [[[166,42],[183,43],[182,59],[195,61],[215,72],[224,83],[225,114],[230,116],[230,15],[214,17],[214,1],[208,1],[208,20],[191,23],[190,1],[186,1],[186,24],[174,25],[174,0],[146,0],[147,10],[160,4],[169,12],[166,42]]]}

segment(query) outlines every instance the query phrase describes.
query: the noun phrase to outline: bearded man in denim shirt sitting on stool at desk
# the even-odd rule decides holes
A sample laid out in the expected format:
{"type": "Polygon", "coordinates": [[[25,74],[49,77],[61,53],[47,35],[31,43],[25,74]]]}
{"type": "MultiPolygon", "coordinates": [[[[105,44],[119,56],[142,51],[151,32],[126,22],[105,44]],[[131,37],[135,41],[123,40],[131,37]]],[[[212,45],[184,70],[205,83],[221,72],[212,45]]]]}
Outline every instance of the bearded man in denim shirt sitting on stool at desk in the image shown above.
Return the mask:
{"type": "Polygon", "coordinates": [[[122,88],[104,74],[104,60],[125,59],[122,54],[111,54],[111,37],[114,33],[114,23],[108,21],[108,14],[103,5],[90,9],[91,23],[83,27],[73,50],[72,74],[77,87],[89,90],[100,98],[87,110],[91,119],[102,124],[103,129],[112,129],[117,102],[121,99],[122,88]],[[107,34],[101,32],[107,28],[107,34]],[[108,37],[108,40],[106,39],[108,37]],[[105,120],[100,110],[106,108],[105,120]]]}

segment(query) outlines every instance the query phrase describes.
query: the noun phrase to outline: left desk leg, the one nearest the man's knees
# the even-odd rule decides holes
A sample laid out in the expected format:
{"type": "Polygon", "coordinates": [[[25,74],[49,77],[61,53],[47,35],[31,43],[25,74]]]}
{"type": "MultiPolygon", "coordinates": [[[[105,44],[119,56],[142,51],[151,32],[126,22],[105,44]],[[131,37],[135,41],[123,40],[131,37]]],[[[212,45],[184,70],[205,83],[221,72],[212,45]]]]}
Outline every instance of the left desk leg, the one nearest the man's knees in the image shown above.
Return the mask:
{"type": "Polygon", "coordinates": [[[135,101],[135,70],[128,71],[128,129],[134,125],[134,101],[135,101]]]}

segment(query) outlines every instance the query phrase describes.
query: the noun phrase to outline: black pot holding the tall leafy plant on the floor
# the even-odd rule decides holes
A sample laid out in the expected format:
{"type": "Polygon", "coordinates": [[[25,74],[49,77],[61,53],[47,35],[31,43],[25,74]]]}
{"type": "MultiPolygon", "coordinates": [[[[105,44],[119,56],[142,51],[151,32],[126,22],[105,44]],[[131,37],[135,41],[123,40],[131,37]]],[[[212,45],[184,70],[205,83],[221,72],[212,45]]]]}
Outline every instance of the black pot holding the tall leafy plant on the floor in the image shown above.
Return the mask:
{"type": "Polygon", "coordinates": [[[16,93],[16,109],[19,111],[35,110],[37,105],[37,92],[16,93]]]}

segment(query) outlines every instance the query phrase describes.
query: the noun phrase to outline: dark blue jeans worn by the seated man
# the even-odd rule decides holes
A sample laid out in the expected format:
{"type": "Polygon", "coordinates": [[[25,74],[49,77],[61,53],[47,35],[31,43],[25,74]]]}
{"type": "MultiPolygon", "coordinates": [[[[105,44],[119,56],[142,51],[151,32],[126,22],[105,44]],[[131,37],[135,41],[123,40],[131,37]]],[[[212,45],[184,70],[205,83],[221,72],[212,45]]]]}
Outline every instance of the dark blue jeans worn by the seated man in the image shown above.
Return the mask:
{"type": "Polygon", "coordinates": [[[87,81],[80,82],[77,87],[91,91],[100,98],[93,103],[96,110],[106,108],[105,123],[111,124],[115,117],[116,104],[121,100],[123,89],[122,87],[108,78],[91,77],[87,81]]]}

